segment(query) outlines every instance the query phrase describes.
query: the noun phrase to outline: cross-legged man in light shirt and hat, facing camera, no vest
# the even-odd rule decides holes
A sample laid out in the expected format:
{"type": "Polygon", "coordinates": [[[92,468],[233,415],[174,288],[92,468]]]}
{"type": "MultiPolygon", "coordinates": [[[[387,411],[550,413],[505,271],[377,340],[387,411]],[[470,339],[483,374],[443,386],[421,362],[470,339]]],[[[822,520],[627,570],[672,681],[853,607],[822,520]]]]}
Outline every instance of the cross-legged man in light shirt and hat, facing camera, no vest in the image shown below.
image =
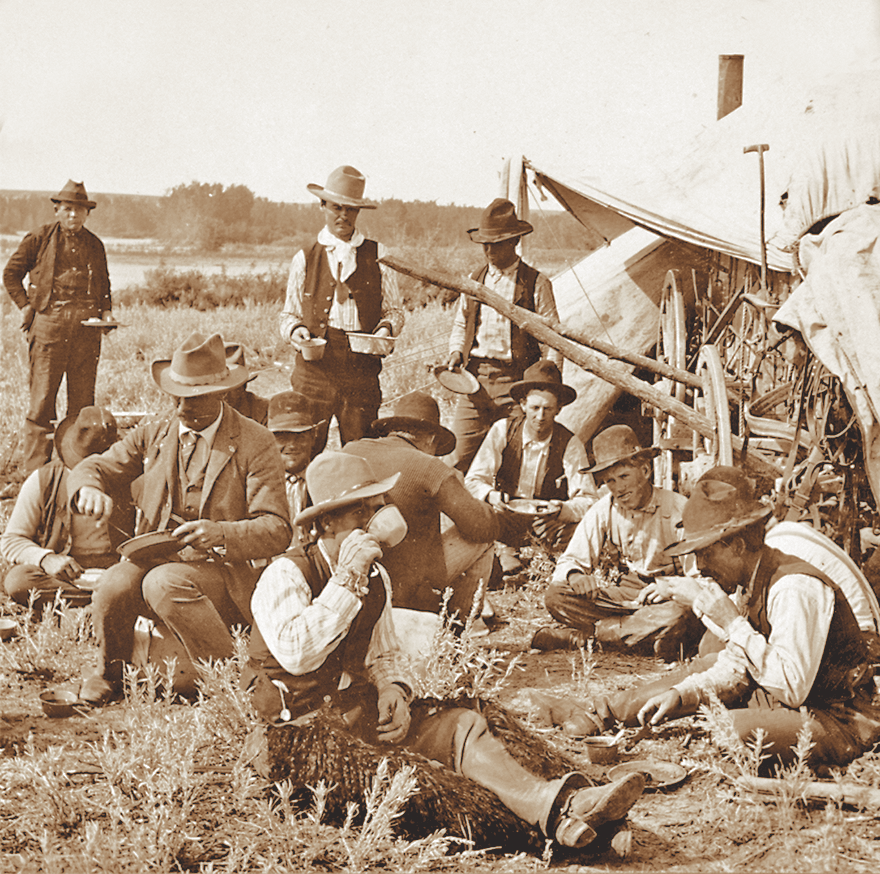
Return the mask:
{"type": "Polygon", "coordinates": [[[678,539],[685,498],[655,488],[651,459],[627,425],[613,425],[593,440],[597,483],[607,486],[581,520],[553,570],[544,603],[563,628],[542,628],[536,649],[601,643],[653,646],[663,658],[680,655],[680,644],[699,640],[699,623],[674,604],[637,610],[644,587],[659,574],[693,571],[676,567],[663,550],[678,539]]]}

